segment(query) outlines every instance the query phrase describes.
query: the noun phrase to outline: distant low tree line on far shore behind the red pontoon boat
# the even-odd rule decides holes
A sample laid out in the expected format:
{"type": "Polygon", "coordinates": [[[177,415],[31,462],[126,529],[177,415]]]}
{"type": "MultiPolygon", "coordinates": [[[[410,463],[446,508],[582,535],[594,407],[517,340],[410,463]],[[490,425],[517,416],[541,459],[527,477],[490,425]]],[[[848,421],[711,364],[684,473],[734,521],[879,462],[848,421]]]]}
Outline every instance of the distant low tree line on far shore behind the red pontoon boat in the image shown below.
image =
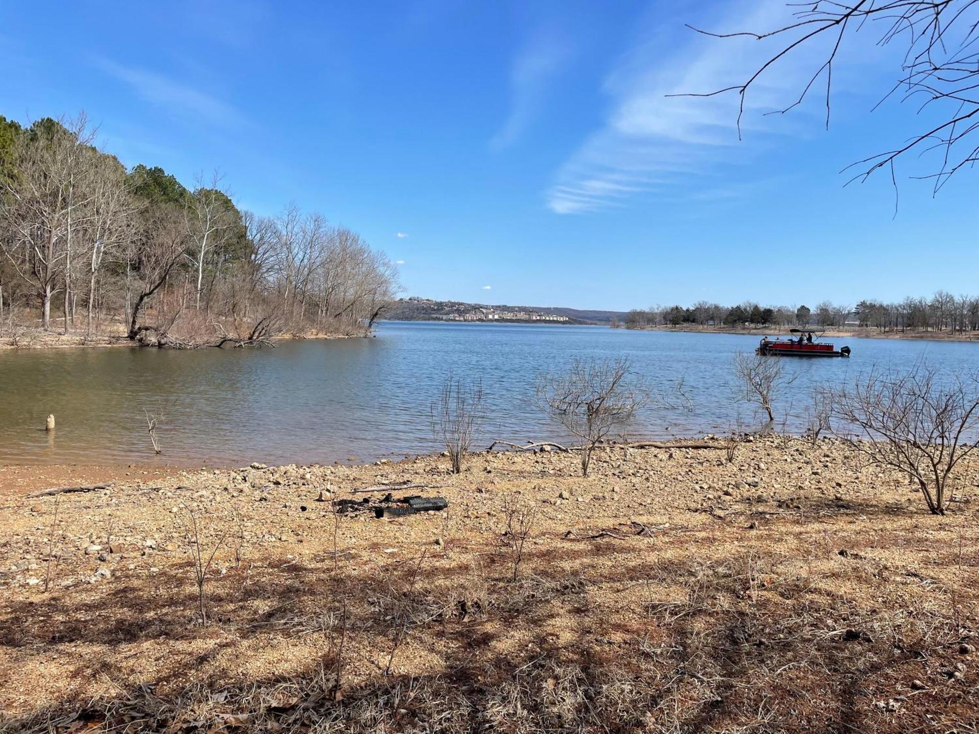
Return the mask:
{"type": "Polygon", "coordinates": [[[847,325],[889,331],[972,332],[979,331],[979,297],[953,296],[939,291],[931,298],[905,298],[883,302],[861,300],[845,305],[823,300],[815,308],[761,306],[746,301],[733,306],[700,300],[691,306],[634,308],[623,322],[627,329],[647,326],[695,325],[704,328],[819,327],[847,325]]]}

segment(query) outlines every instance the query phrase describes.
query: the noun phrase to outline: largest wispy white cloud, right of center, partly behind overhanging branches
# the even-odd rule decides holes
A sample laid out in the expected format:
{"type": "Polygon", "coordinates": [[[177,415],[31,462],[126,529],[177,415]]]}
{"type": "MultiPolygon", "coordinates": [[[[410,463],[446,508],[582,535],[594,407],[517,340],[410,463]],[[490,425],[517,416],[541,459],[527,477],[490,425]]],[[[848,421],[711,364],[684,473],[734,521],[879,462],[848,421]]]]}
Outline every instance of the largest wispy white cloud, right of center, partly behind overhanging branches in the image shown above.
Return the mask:
{"type": "MultiPolygon", "coordinates": [[[[728,12],[722,17],[718,7],[713,6],[712,29],[768,28],[786,18],[784,0],[738,0],[724,4],[728,12]]],[[[654,16],[660,28],[669,24],[675,30],[679,25],[654,16]]],[[[737,146],[736,92],[706,98],[669,95],[711,92],[743,82],[770,53],[770,45],[685,32],[677,46],[674,38],[656,37],[655,30],[647,29],[643,43],[619,60],[604,84],[613,103],[604,125],[565,161],[546,192],[552,211],[583,213],[625,206],[631,197],[669,191],[681,177],[709,174],[750,155],[748,146],[737,146]],[[672,53],[664,51],[668,44],[672,53]]],[[[786,92],[791,95],[795,86],[789,90],[790,84],[798,81],[794,74],[800,67],[808,69],[806,59],[800,58],[804,56],[808,54],[772,68],[746,98],[741,120],[746,137],[774,129],[775,118],[763,113],[787,104],[786,92]]],[[[790,130],[784,117],[779,116],[777,124],[783,133],[790,130]]]]}

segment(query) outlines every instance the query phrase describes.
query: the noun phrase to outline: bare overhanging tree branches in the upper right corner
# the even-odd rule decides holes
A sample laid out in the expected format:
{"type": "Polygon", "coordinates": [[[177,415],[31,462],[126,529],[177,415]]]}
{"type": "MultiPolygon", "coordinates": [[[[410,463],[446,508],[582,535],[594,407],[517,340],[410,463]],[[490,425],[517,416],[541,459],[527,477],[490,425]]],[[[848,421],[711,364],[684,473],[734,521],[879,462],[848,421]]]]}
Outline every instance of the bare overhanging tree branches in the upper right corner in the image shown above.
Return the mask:
{"type": "Polygon", "coordinates": [[[938,121],[892,150],[848,166],[856,166],[858,171],[851,180],[865,180],[874,171],[887,168],[896,187],[895,161],[909,153],[930,151],[939,160],[938,169],[922,177],[933,179],[933,190],[937,192],[956,171],[979,161],[974,135],[979,129],[979,96],[975,93],[979,87],[975,52],[979,13],[974,0],[813,0],[786,6],[791,19],[770,29],[714,32],[694,28],[719,38],[742,37],[775,45],[744,80],[688,96],[737,95],[740,134],[747,96],[764,88],[772,69],[790,63],[792,57],[815,46],[819,57],[813,75],[800,80],[798,97],[786,100],[783,108],[772,112],[789,112],[820,87],[825,90],[820,95],[824,97],[828,127],[833,74],[841,51],[864,38],[877,46],[900,44],[905,49],[901,68],[881,101],[901,95],[904,101],[917,104],[919,111],[936,108],[938,121]],[[876,32],[867,37],[874,29],[876,32]]]}

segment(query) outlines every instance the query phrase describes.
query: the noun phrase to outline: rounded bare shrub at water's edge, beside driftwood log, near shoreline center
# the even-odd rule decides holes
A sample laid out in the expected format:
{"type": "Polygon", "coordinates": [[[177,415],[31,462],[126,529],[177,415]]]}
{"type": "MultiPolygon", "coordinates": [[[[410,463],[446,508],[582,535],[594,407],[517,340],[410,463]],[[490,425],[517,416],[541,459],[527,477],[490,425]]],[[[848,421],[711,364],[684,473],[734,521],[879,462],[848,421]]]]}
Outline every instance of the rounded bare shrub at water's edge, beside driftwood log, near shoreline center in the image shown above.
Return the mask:
{"type": "Polygon", "coordinates": [[[563,374],[537,379],[537,404],[581,441],[582,476],[595,446],[622,428],[647,400],[647,390],[630,369],[629,360],[579,360],[563,374]]]}

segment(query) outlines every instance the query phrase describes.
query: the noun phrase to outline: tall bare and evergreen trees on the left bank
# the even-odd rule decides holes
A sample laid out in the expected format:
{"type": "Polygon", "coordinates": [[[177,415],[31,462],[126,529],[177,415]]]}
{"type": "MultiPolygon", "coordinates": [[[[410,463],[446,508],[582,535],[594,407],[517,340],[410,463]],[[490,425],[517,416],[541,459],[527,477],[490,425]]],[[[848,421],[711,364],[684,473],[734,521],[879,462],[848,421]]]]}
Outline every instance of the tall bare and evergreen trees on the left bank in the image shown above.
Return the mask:
{"type": "Polygon", "coordinates": [[[216,173],[188,188],[126,169],[84,115],[0,115],[0,326],[262,344],[369,331],[397,288],[383,252],[322,214],[240,210],[216,173]]]}

